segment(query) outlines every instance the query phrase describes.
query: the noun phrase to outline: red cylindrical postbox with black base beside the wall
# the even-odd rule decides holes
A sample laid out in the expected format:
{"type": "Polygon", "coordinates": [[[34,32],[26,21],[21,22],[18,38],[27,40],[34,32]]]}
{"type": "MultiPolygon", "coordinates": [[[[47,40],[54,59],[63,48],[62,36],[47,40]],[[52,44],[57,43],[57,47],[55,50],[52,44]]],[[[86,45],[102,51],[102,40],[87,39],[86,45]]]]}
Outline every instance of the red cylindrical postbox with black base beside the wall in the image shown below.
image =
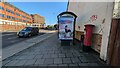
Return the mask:
{"type": "Polygon", "coordinates": [[[85,26],[85,35],[84,35],[84,45],[83,45],[83,50],[84,51],[90,51],[91,49],[91,42],[92,42],[92,32],[94,25],[93,24],[86,24],[85,26]]]}

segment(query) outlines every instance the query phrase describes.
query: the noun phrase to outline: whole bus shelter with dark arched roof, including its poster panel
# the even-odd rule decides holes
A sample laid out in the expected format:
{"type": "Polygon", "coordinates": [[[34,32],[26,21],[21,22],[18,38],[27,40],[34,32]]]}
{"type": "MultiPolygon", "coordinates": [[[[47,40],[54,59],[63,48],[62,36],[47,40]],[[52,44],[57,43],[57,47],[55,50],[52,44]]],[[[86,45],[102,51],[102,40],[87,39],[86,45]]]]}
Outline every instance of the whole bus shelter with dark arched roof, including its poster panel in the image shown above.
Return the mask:
{"type": "Polygon", "coordinates": [[[62,12],[58,16],[58,37],[61,45],[70,45],[74,40],[76,15],[72,12],[62,12]]]}

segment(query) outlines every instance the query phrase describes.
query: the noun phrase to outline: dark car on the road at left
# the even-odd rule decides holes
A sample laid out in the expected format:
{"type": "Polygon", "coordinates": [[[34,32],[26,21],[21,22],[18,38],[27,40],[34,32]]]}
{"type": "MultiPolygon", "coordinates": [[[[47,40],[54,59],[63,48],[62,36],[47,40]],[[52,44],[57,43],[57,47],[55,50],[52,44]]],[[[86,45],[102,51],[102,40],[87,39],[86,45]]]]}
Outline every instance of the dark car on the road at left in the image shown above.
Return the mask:
{"type": "Polygon", "coordinates": [[[25,27],[24,29],[17,33],[19,37],[31,37],[33,35],[38,34],[39,34],[38,27],[25,27]]]}

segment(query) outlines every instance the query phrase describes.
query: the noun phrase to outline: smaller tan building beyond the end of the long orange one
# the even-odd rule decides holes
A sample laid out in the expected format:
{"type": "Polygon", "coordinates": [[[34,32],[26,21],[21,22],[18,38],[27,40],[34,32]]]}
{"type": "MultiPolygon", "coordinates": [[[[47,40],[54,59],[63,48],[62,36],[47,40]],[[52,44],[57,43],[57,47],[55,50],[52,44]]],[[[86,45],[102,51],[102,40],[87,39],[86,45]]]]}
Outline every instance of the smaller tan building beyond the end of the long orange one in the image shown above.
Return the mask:
{"type": "Polygon", "coordinates": [[[32,26],[37,26],[40,28],[44,28],[45,25],[45,19],[44,17],[38,15],[38,14],[31,14],[32,16],[32,26]]]}

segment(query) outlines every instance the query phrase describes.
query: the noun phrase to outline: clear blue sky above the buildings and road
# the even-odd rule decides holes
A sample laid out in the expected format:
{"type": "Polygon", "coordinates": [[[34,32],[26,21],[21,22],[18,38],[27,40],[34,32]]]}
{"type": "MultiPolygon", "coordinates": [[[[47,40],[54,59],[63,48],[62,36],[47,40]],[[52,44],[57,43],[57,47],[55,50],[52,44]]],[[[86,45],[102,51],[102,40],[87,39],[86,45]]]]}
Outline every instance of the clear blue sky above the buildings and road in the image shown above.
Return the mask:
{"type": "Polygon", "coordinates": [[[39,14],[45,17],[46,25],[57,23],[57,15],[67,10],[67,2],[10,2],[17,8],[29,14],[39,14]]]}

